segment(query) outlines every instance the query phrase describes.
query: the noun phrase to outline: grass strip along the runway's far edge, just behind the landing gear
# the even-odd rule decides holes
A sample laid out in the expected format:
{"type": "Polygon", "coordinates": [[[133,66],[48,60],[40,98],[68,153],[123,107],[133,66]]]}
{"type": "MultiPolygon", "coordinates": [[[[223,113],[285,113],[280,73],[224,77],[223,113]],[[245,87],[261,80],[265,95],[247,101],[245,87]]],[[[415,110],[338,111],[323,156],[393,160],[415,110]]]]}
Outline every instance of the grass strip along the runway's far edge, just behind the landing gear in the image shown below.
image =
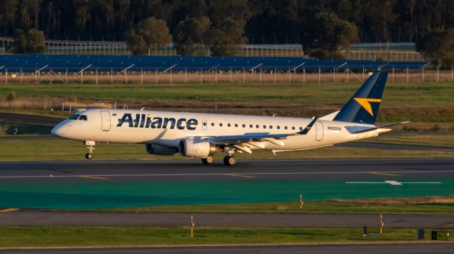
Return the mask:
{"type": "MultiPolygon", "coordinates": [[[[81,141],[64,140],[61,138],[28,136],[0,137],[0,154],[2,161],[38,161],[38,160],[85,160],[87,148],[81,141]],[[26,158],[24,158],[26,155],[26,158]]],[[[253,154],[238,154],[240,159],[309,159],[309,158],[445,158],[453,153],[443,151],[411,151],[411,150],[377,150],[367,148],[328,147],[313,150],[277,153],[258,150],[253,154]]],[[[216,155],[221,159],[223,154],[216,155]]],[[[157,156],[145,152],[144,145],[135,144],[96,144],[94,160],[182,160],[188,159],[179,155],[157,156]]]]}

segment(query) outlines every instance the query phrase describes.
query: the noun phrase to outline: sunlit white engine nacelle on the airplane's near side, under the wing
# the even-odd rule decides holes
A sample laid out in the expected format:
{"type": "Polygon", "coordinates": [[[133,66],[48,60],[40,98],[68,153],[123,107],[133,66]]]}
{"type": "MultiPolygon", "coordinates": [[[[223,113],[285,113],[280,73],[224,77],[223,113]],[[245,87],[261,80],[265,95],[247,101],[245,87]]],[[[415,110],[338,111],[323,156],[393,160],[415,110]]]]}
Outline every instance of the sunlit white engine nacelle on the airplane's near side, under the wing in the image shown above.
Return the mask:
{"type": "Polygon", "coordinates": [[[182,155],[195,158],[206,158],[222,151],[221,148],[209,142],[196,142],[191,138],[179,141],[178,147],[182,155]]]}

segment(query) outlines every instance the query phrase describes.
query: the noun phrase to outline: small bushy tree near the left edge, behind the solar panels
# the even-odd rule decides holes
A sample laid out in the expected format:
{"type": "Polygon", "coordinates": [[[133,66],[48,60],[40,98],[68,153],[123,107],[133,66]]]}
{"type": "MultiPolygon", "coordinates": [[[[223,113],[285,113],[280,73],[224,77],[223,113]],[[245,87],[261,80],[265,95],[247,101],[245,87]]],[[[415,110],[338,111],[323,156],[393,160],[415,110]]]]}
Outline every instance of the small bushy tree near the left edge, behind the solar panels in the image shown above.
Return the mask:
{"type": "Polygon", "coordinates": [[[24,33],[21,29],[16,31],[16,38],[13,43],[13,53],[16,54],[39,54],[44,53],[46,46],[44,45],[45,36],[43,31],[30,29],[28,33],[24,33]]]}

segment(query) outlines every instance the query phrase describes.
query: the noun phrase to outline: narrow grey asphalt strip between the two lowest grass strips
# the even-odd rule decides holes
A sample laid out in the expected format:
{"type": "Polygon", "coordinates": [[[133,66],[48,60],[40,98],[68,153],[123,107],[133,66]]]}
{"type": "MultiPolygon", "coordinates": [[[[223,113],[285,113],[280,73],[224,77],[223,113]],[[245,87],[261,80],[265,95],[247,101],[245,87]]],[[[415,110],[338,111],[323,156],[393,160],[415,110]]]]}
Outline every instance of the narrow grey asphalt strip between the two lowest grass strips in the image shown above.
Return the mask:
{"type": "MultiPolygon", "coordinates": [[[[194,216],[196,226],[321,226],[377,227],[377,214],[185,214],[185,213],[62,213],[16,211],[0,213],[1,226],[184,226],[194,216]]],[[[454,215],[384,215],[393,228],[454,226],[454,215]]]]}

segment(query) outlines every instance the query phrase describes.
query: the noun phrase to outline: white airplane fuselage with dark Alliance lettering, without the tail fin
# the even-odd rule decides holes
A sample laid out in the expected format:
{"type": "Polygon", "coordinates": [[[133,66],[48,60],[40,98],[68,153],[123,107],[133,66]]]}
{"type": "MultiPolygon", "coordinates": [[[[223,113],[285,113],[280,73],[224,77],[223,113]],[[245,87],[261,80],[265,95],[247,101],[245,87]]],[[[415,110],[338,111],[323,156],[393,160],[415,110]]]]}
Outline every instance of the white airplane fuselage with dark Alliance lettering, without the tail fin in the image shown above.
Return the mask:
{"type": "MultiPolygon", "coordinates": [[[[311,118],[123,109],[88,109],[77,114],[84,115],[87,119],[67,119],[57,125],[52,130],[52,134],[71,140],[143,143],[178,148],[180,140],[192,137],[201,137],[210,141],[216,136],[244,135],[245,133],[297,133],[312,120],[311,118]],[[125,117],[125,114],[130,114],[131,116],[125,117]]],[[[281,140],[283,143],[280,143],[280,145],[259,140],[258,142],[261,144],[251,147],[251,150],[262,148],[283,151],[318,148],[370,138],[378,136],[380,133],[378,130],[356,134],[348,131],[350,128],[365,127],[373,126],[321,118],[316,121],[313,128],[306,135],[288,136],[281,140]]]]}

